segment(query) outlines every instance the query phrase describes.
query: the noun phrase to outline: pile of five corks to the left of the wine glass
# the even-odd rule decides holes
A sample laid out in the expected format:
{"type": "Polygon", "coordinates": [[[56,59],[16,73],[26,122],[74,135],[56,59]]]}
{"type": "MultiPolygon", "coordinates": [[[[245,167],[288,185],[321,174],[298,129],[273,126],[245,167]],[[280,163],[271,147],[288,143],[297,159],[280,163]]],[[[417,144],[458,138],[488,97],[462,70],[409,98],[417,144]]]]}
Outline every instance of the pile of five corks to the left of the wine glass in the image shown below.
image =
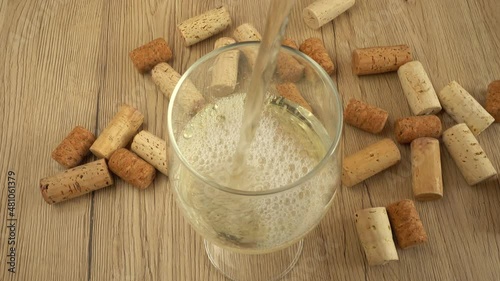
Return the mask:
{"type": "Polygon", "coordinates": [[[97,138],[75,127],[52,152],[67,170],[40,180],[44,200],[59,203],[111,186],[112,174],[139,189],[151,185],[156,170],[168,175],[166,141],[145,130],[138,132],[143,121],[137,109],[122,105],[97,138]],[[81,164],[90,152],[99,159],[81,164]]]}

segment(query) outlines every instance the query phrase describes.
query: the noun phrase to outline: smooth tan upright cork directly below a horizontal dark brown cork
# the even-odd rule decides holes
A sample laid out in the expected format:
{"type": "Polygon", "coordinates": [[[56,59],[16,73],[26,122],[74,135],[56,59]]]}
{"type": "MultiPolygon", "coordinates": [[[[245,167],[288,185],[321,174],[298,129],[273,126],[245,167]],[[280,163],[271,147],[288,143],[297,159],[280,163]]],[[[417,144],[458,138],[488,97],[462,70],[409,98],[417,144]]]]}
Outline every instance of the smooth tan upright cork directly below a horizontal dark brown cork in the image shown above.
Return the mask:
{"type": "Polygon", "coordinates": [[[411,142],[413,196],[419,201],[443,197],[443,176],[439,140],[418,138],[411,142]]]}

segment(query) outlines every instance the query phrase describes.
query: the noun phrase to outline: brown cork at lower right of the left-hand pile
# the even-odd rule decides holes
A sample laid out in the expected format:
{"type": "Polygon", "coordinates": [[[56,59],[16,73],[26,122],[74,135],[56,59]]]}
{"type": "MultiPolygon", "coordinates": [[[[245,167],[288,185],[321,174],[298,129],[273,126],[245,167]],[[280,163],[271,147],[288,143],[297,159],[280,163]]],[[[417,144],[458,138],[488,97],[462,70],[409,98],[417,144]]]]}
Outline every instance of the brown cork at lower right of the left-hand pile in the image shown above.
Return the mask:
{"type": "Polygon", "coordinates": [[[126,148],[115,151],[108,164],[113,173],[139,189],[151,185],[156,176],[153,166],[126,148]]]}

